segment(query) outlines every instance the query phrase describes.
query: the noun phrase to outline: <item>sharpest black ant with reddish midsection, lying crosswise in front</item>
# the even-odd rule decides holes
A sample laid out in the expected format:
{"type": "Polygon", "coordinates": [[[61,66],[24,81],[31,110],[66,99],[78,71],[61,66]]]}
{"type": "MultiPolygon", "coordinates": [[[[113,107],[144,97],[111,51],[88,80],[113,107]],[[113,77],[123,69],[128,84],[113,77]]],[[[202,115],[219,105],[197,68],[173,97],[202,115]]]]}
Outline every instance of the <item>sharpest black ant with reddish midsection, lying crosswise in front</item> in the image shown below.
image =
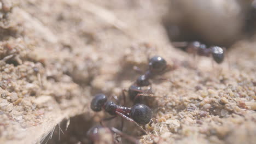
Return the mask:
{"type": "MultiPolygon", "coordinates": [[[[113,117],[106,120],[115,118],[117,115],[127,119],[130,122],[135,123],[138,127],[139,124],[147,124],[151,121],[152,110],[144,104],[135,104],[132,107],[125,107],[115,104],[113,101],[108,101],[106,95],[96,94],[94,99],[91,100],[91,109],[95,112],[99,112],[102,109],[108,112],[113,117]]],[[[139,127],[141,128],[141,127],[139,127]]],[[[121,125],[123,129],[123,123],[121,125]]],[[[146,134],[147,131],[141,128],[146,134]]]]}

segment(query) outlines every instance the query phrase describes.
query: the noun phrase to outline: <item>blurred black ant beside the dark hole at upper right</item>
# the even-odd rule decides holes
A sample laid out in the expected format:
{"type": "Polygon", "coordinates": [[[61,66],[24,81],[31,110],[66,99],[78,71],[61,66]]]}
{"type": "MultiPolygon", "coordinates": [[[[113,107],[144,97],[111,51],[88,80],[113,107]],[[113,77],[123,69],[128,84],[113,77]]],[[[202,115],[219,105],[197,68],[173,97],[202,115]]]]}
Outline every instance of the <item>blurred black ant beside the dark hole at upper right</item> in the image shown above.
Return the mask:
{"type": "Polygon", "coordinates": [[[185,47],[185,51],[188,53],[193,53],[193,55],[210,57],[212,55],[214,61],[218,64],[224,61],[225,48],[219,46],[211,46],[207,48],[205,44],[199,41],[192,41],[190,43],[186,42],[174,42],[174,46],[185,47]]]}

